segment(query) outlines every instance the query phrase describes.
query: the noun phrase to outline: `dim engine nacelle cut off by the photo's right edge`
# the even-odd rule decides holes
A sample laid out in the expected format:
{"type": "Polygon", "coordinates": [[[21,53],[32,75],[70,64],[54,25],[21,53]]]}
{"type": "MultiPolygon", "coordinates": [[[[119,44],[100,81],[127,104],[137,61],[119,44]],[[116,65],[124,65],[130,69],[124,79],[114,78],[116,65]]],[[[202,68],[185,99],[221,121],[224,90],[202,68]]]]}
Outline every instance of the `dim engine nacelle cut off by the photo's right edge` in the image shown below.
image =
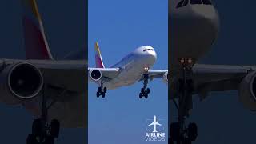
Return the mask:
{"type": "Polygon", "coordinates": [[[239,100],[243,106],[256,110],[256,71],[247,74],[239,87],[239,100]]]}

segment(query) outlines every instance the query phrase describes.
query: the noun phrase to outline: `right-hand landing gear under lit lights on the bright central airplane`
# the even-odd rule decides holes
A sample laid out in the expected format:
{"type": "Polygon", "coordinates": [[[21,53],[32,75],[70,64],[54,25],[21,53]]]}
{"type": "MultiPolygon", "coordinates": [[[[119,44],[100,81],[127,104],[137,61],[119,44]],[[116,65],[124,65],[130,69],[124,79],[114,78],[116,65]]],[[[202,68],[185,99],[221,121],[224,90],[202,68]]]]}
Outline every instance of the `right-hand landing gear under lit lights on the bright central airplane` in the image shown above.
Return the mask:
{"type": "Polygon", "coordinates": [[[148,98],[148,95],[150,94],[150,88],[147,87],[147,84],[149,82],[149,74],[147,74],[149,68],[146,67],[145,74],[143,74],[143,87],[141,89],[141,92],[139,93],[139,98],[148,98]]]}

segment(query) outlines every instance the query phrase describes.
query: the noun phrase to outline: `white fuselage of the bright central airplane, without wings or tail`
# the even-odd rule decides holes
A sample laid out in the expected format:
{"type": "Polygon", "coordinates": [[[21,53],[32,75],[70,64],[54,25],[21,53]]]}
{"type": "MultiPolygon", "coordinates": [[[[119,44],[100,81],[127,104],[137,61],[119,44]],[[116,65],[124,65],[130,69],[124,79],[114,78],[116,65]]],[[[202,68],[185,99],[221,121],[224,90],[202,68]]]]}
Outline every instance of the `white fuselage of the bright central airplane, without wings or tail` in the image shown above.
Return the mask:
{"type": "MultiPolygon", "coordinates": [[[[156,61],[157,54],[151,46],[141,46],[132,53],[126,55],[118,63],[110,66],[121,70],[117,77],[104,82],[107,89],[115,89],[120,86],[130,86],[138,82],[145,74],[145,68],[150,68],[156,61]]],[[[97,82],[100,84],[100,82],[97,82]]]]}

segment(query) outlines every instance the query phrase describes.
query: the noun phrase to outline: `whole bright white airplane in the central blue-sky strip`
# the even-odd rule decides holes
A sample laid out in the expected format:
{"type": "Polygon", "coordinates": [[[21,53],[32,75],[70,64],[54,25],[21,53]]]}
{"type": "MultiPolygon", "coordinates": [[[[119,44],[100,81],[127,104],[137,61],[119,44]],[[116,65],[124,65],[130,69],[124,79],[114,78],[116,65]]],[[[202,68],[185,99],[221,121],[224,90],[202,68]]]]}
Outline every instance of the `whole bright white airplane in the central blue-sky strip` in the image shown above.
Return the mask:
{"type": "Polygon", "coordinates": [[[141,46],[126,55],[122,60],[110,68],[105,68],[98,43],[95,44],[95,68],[89,68],[88,79],[99,85],[97,97],[105,97],[107,89],[116,89],[120,86],[130,86],[135,82],[142,81],[143,87],[139,98],[148,98],[150,88],[147,87],[148,80],[163,78],[167,82],[168,70],[150,70],[157,59],[157,54],[151,46],[141,46]]]}

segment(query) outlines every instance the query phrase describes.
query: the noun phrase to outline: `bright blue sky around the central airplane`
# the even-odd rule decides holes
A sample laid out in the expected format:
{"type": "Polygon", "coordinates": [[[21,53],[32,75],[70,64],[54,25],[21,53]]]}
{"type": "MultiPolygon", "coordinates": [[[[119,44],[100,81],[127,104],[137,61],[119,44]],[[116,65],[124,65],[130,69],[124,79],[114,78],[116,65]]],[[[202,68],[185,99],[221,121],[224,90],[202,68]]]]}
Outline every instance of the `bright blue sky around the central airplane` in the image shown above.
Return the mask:
{"type": "MultiPolygon", "coordinates": [[[[168,68],[168,1],[90,0],[89,66],[94,67],[94,42],[98,41],[105,66],[111,66],[138,46],[153,46],[158,54],[154,69],[168,68]]],[[[89,143],[148,143],[146,119],[165,119],[167,132],[167,86],[162,79],[149,84],[148,99],[139,99],[142,82],[108,90],[96,98],[98,86],[89,83],[89,143]]],[[[152,142],[150,142],[152,143],[152,142]]],[[[154,142],[154,143],[167,143],[154,142]]]]}

